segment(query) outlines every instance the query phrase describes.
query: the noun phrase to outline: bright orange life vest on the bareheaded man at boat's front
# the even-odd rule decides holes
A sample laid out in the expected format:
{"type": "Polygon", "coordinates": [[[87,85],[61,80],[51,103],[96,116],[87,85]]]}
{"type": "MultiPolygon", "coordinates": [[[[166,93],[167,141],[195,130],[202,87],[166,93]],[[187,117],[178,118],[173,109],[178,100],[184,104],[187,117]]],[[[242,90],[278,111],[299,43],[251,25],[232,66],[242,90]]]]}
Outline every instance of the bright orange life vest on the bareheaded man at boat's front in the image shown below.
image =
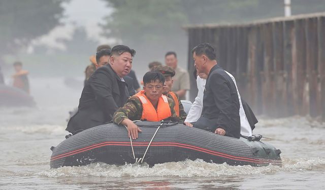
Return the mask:
{"type": "Polygon", "coordinates": [[[135,96],[137,96],[142,103],[142,121],[159,122],[172,116],[167,96],[161,95],[161,97],[159,97],[157,110],[144,94],[144,90],[138,92],[135,96]]]}

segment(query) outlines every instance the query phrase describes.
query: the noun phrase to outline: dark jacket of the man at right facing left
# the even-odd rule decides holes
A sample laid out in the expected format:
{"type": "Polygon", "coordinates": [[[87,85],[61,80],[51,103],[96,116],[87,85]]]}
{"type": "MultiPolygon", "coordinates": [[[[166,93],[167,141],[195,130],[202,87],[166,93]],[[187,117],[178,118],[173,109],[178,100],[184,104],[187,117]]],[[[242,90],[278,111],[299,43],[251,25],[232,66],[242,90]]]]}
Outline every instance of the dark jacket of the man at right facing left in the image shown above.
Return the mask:
{"type": "Polygon", "coordinates": [[[218,65],[213,66],[208,75],[202,116],[194,127],[211,132],[221,128],[226,136],[240,137],[237,89],[231,77],[218,65]]]}

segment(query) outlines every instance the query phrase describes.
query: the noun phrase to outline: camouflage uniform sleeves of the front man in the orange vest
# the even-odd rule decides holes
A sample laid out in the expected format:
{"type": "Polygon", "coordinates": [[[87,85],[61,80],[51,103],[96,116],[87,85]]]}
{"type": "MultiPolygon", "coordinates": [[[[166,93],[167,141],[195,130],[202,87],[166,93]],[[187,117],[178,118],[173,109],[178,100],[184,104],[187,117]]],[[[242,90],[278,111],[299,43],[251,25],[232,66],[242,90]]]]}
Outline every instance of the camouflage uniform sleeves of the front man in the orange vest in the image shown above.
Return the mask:
{"type": "MultiPolygon", "coordinates": [[[[179,117],[176,116],[175,110],[174,110],[174,101],[171,98],[167,98],[169,107],[171,108],[171,121],[179,121],[179,117]]],[[[113,122],[116,124],[120,124],[124,119],[129,119],[132,121],[135,120],[141,120],[142,118],[142,103],[140,99],[137,96],[132,96],[128,98],[126,103],[123,107],[118,108],[113,116],[113,122]]]]}

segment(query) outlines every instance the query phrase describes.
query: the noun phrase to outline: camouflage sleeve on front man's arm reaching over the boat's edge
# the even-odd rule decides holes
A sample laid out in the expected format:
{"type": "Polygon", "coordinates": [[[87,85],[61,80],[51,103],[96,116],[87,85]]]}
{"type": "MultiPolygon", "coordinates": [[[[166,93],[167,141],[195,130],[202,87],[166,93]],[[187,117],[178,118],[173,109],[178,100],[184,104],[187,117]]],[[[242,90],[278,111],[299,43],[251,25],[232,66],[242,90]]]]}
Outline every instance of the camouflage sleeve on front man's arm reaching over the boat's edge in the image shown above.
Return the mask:
{"type": "Polygon", "coordinates": [[[142,105],[137,97],[130,97],[123,105],[123,107],[118,108],[113,116],[113,122],[120,125],[120,123],[125,120],[140,120],[142,117],[142,105]]]}

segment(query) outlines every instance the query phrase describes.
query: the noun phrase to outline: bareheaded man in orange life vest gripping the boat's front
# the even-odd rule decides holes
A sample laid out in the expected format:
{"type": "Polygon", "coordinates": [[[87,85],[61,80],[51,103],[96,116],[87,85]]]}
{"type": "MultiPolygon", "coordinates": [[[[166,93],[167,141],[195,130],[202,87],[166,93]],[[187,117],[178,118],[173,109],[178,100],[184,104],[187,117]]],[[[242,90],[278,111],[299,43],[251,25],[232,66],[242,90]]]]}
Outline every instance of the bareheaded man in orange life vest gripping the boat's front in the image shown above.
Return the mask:
{"type": "Polygon", "coordinates": [[[179,121],[174,101],[163,95],[165,77],[160,72],[149,71],[143,76],[143,90],[130,97],[113,116],[114,123],[127,127],[128,137],[138,138],[141,129],[132,121],[179,121]]]}

